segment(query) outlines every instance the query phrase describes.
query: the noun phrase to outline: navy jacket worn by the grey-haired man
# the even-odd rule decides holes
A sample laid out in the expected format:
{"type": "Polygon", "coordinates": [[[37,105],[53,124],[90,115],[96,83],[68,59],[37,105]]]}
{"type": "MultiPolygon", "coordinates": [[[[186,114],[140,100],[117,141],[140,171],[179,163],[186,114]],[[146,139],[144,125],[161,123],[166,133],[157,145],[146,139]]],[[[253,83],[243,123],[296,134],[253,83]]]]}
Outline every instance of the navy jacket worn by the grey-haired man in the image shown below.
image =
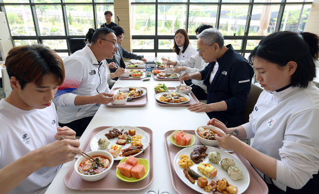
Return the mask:
{"type": "Polygon", "coordinates": [[[225,100],[227,104],[226,111],[209,112],[207,115],[211,119],[216,118],[222,121],[227,127],[236,127],[242,124],[254,71],[247,60],[235,52],[231,45],[226,47],[228,50],[217,59],[219,66],[212,84],[209,81],[215,62],[208,64],[199,73],[207,86],[207,103],[225,100]]]}

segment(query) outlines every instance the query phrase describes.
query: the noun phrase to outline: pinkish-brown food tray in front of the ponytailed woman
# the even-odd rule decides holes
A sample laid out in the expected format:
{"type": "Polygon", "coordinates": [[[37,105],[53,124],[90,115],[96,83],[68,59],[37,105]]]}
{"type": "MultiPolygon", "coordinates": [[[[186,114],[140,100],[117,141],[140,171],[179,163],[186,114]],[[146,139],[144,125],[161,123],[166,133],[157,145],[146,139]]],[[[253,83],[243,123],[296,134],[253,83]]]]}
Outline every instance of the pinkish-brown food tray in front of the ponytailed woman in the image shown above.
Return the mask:
{"type": "MultiPolygon", "coordinates": [[[[176,192],[179,194],[188,194],[190,188],[187,187],[185,183],[178,177],[172,165],[172,163],[174,162],[174,157],[177,154],[177,152],[179,152],[181,149],[184,148],[184,147],[178,147],[176,145],[173,145],[171,142],[169,142],[168,138],[174,131],[175,130],[170,130],[164,134],[168,166],[169,166],[169,170],[172,177],[172,183],[176,192]]],[[[183,130],[183,131],[185,133],[195,135],[194,130],[183,130]]],[[[197,138],[194,145],[201,145],[201,143],[197,140],[197,138]]],[[[241,155],[237,154],[236,152],[233,152],[231,154],[234,155],[235,157],[238,157],[239,160],[245,165],[245,167],[247,168],[249,172],[250,183],[247,190],[243,194],[268,194],[268,187],[265,181],[260,177],[258,172],[250,165],[250,163],[246,159],[244,159],[241,155]]],[[[192,190],[191,193],[200,194],[196,192],[195,190],[192,190]]]]}

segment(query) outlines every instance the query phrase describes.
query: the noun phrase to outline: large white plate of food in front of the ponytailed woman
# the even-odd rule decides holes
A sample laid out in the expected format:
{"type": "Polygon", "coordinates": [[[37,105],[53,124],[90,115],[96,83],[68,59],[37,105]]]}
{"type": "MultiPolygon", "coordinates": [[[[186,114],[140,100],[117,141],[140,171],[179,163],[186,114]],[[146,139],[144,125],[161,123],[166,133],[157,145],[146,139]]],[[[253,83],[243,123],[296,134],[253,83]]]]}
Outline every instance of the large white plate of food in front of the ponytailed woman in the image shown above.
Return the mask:
{"type": "MultiPolygon", "coordinates": [[[[190,146],[190,147],[186,147],[184,149],[182,149],[181,151],[179,151],[174,158],[174,170],[177,173],[177,175],[180,177],[180,179],[190,188],[192,188],[193,190],[201,193],[201,194],[208,194],[207,192],[204,191],[204,188],[201,189],[198,185],[197,185],[197,180],[195,180],[195,184],[192,184],[184,175],[183,173],[183,169],[180,167],[180,165],[178,164],[178,161],[181,159],[180,156],[182,154],[187,155],[190,158],[190,153],[194,150],[195,147],[197,147],[199,145],[194,145],[194,146],[190,146]]],[[[246,191],[246,189],[249,186],[250,183],[250,177],[249,177],[249,173],[248,170],[246,169],[246,167],[242,164],[242,162],[236,158],[235,156],[233,156],[232,154],[223,151],[221,149],[218,149],[216,147],[212,147],[212,146],[207,146],[207,150],[205,151],[205,153],[209,153],[212,151],[217,151],[220,153],[220,157],[221,159],[223,158],[231,158],[234,160],[234,162],[236,163],[236,166],[242,171],[244,177],[240,180],[234,181],[230,178],[230,176],[228,175],[227,171],[223,170],[220,166],[220,164],[215,164],[215,163],[211,163],[208,159],[208,156],[206,156],[206,158],[202,158],[203,162],[205,163],[210,163],[213,165],[213,167],[215,167],[215,169],[217,170],[217,175],[215,177],[213,177],[213,179],[208,178],[207,176],[205,176],[208,180],[208,183],[211,182],[211,180],[213,181],[217,181],[217,180],[222,180],[222,178],[226,178],[228,183],[237,187],[238,188],[238,193],[237,194],[241,194],[244,191],[246,191]]],[[[202,162],[201,162],[202,163],[202,162]]],[[[200,164],[200,163],[199,163],[200,164]]],[[[199,164],[193,164],[193,166],[189,167],[190,169],[194,170],[197,174],[204,176],[198,169],[197,166],[199,164]]]]}

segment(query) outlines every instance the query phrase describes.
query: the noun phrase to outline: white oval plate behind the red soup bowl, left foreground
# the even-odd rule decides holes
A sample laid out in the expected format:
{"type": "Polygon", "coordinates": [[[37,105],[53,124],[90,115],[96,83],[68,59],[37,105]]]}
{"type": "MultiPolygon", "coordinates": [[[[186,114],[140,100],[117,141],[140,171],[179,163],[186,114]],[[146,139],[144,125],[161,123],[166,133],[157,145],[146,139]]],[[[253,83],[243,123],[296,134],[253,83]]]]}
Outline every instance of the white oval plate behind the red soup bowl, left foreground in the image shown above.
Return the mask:
{"type": "MultiPolygon", "coordinates": [[[[117,137],[113,138],[113,139],[108,139],[104,134],[108,133],[110,129],[113,129],[113,128],[117,128],[117,129],[124,129],[123,133],[126,132],[126,131],[129,131],[129,129],[134,129],[135,130],[135,135],[141,135],[142,136],[142,144],[143,144],[143,149],[146,149],[147,146],[149,145],[150,143],[150,138],[148,137],[147,133],[145,131],[143,131],[142,129],[140,128],[137,128],[137,127],[133,127],[133,126],[114,126],[114,127],[110,127],[110,128],[107,128],[107,129],[104,129],[102,131],[100,131],[99,133],[97,133],[91,140],[90,142],[90,147],[91,147],[91,150],[92,151],[95,151],[95,150],[105,150],[107,151],[111,145],[113,144],[116,144],[116,141],[118,140],[117,137]],[[98,141],[100,138],[106,138],[108,139],[109,141],[109,145],[107,146],[106,149],[101,149],[98,145],[98,141]]],[[[131,137],[131,136],[130,136],[131,137]]],[[[125,149],[125,148],[128,148],[131,144],[126,144],[126,145],[122,145],[122,149],[125,149]]],[[[140,151],[138,152],[137,154],[133,155],[133,156],[136,156],[140,153],[142,153],[143,151],[140,151]]],[[[120,152],[121,154],[122,152],[120,152]]],[[[126,158],[126,157],[122,157],[122,156],[117,156],[116,158],[114,158],[114,160],[122,160],[122,158],[126,158]]]]}

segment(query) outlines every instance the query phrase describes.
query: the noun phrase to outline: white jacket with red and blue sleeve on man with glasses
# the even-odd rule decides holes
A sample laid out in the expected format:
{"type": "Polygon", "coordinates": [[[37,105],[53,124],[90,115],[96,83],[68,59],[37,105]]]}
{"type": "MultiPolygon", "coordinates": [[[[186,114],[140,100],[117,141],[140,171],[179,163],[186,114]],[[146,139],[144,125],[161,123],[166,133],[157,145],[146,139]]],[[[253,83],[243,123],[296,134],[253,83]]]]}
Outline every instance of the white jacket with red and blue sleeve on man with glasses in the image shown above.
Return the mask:
{"type": "Polygon", "coordinates": [[[64,60],[65,79],[54,97],[60,123],[69,123],[84,117],[94,116],[100,104],[76,106],[75,97],[95,96],[109,93],[107,63],[100,65],[89,45],[76,51],[64,60]]]}

